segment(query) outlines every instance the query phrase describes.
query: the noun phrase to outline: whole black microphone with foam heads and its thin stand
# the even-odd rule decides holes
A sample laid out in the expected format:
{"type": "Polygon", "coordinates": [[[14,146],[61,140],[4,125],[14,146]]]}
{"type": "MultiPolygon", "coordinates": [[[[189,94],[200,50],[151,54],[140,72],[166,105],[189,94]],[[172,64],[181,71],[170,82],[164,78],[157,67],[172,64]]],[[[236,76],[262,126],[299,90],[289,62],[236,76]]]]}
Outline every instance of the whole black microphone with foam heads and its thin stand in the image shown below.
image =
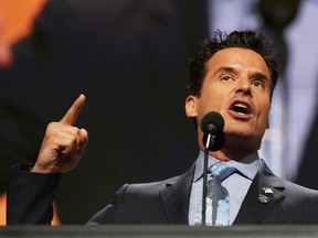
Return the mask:
{"type": "Polygon", "coordinates": [[[202,226],[205,226],[205,213],[206,213],[206,183],[208,183],[208,158],[209,150],[218,151],[220,150],[224,143],[224,119],[221,113],[216,111],[210,111],[203,116],[201,120],[201,130],[203,131],[203,144],[205,147],[204,150],[204,161],[203,161],[203,187],[202,187],[202,209],[201,209],[201,218],[202,226]]]}

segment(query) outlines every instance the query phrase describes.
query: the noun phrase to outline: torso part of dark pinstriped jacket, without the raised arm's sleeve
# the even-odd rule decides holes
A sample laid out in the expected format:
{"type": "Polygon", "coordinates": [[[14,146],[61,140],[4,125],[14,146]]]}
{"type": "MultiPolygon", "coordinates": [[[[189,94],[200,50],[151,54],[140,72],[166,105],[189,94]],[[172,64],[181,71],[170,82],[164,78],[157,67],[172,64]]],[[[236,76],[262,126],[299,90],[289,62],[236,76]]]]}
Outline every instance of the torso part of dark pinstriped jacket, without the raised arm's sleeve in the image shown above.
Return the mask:
{"type": "MultiPolygon", "coordinates": [[[[124,185],[88,224],[188,224],[193,171],[194,165],[167,181],[124,185]]],[[[278,178],[264,163],[234,220],[239,224],[318,224],[318,192],[278,178]]]]}

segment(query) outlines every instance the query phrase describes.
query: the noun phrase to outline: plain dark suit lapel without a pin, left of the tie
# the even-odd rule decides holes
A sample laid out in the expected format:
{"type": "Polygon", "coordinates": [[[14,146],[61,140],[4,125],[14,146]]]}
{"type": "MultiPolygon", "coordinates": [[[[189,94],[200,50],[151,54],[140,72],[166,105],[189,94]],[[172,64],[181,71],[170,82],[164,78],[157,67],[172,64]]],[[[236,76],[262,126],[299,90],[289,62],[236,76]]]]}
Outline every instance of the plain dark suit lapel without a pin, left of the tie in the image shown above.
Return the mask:
{"type": "Polygon", "coordinates": [[[169,224],[189,224],[189,201],[194,167],[195,163],[186,174],[167,183],[166,188],[160,193],[165,215],[169,224]]]}

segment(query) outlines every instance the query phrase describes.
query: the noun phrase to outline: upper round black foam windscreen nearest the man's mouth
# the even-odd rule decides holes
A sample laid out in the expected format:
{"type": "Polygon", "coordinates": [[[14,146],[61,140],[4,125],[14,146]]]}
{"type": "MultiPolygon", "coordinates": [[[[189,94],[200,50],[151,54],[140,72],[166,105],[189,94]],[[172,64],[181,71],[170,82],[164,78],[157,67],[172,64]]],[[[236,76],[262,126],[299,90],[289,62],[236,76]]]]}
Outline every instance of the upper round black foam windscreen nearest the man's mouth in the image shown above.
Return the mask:
{"type": "Polygon", "coordinates": [[[210,111],[201,120],[201,130],[203,133],[211,133],[211,125],[214,126],[213,130],[215,133],[223,131],[224,119],[218,111],[210,111]]]}

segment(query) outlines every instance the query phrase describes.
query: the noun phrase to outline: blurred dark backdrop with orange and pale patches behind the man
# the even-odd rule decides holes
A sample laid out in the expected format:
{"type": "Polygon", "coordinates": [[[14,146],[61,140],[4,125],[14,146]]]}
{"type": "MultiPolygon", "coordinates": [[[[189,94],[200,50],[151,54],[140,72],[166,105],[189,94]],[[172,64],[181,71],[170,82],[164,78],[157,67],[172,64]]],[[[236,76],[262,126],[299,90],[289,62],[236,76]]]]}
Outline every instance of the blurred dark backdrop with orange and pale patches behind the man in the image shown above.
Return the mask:
{"type": "Polygon", "coordinates": [[[36,160],[46,125],[82,93],[89,143],[63,175],[60,223],[85,224],[124,183],[186,172],[198,155],[189,60],[218,29],[273,39],[283,75],[259,154],[318,188],[317,22],[316,0],[0,0],[0,223],[9,167],[36,160]]]}

